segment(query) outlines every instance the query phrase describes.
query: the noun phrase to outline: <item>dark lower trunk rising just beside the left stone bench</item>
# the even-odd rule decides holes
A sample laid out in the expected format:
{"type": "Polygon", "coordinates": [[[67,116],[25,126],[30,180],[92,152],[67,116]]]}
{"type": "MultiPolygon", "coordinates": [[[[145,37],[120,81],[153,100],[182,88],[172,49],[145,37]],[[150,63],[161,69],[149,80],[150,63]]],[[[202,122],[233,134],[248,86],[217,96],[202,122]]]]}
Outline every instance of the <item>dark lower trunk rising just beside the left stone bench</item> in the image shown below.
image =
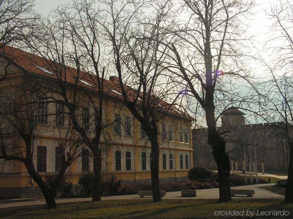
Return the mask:
{"type": "Polygon", "coordinates": [[[157,139],[151,141],[151,188],[153,190],[153,201],[161,201],[159,184],[159,144],[157,139]]]}

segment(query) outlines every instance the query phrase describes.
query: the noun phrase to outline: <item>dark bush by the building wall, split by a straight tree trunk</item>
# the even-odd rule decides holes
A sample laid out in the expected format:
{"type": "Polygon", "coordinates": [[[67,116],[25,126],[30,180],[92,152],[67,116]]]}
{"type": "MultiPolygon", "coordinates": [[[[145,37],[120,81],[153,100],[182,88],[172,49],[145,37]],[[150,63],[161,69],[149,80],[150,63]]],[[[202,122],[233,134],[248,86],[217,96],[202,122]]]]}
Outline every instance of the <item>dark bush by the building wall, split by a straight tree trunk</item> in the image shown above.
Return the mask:
{"type": "MultiPolygon", "coordinates": [[[[87,172],[82,175],[78,183],[82,185],[81,195],[91,196],[93,189],[94,173],[87,172]]],[[[121,180],[117,179],[117,176],[113,173],[101,173],[101,195],[112,196],[117,195],[120,189],[121,180]]]]}

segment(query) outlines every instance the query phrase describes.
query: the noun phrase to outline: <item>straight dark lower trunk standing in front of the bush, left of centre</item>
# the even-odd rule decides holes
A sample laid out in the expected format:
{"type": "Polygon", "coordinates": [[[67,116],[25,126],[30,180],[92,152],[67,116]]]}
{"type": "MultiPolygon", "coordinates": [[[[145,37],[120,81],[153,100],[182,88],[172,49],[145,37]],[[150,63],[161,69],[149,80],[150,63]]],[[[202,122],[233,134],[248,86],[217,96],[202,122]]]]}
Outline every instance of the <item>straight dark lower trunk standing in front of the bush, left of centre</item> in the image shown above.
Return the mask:
{"type": "Polygon", "coordinates": [[[101,201],[101,151],[97,152],[97,155],[93,157],[93,191],[92,191],[92,201],[101,201]]]}

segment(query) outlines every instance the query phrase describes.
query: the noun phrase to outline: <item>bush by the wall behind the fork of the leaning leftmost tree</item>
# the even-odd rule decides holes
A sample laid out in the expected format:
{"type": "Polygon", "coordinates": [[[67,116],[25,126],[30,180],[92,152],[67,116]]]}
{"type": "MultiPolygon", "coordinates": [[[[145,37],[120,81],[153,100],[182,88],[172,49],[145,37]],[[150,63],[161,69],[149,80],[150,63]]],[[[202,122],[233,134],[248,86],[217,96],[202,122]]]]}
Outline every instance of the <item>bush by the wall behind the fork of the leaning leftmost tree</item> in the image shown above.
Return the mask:
{"type": "MultiPolygon", "coordinates": [[[[46,174],[44,176],[47,186],[51,187],[51,184],[56,178],[56,176],[57,176],[57,173],[46,174]]],[[[57,192],[60,192],[62,197],[72,196],[73,185],[71,182],[67,182],[67,179],[68,179],[68,176],[64,174],[64,176],[62,177],[55,191],[55,194],[54,194],[55,197],[57,196],[57,192]]]]}

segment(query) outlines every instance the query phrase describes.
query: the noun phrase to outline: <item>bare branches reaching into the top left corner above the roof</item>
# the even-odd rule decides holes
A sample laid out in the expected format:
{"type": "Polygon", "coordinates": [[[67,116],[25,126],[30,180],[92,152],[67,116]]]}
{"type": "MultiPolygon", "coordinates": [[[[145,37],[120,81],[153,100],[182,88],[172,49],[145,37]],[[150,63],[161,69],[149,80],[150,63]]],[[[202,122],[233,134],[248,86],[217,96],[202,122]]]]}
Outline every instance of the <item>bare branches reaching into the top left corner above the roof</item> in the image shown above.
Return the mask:
{"type": "MultiPolygon", "coordinates": [[[[4,49],[6,44],[19,45],[35,31],[35,23],[40,16],[33,11],[33,6],[34,0],[0,1],[0,49],[3,55],[6,53],[4,49]]],[[[0,74],[0,81],[6,75],[6,71],[0,74]]]]}

